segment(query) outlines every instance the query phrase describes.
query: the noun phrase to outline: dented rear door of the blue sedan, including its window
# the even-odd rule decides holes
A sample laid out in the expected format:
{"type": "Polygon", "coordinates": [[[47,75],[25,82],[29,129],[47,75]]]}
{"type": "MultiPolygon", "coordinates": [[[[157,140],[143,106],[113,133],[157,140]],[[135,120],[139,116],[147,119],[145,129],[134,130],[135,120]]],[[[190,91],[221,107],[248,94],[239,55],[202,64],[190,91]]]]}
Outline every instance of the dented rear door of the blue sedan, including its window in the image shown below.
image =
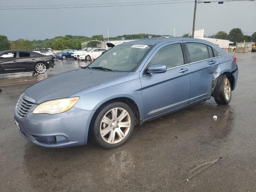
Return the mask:
{"type": "Polygon", "coordinates": [[[191,67],[190,103],[207,98],[212,94],[212,84],[221,72],[218,57],[211,46],[199,42],[186,42],[191,67]]]}

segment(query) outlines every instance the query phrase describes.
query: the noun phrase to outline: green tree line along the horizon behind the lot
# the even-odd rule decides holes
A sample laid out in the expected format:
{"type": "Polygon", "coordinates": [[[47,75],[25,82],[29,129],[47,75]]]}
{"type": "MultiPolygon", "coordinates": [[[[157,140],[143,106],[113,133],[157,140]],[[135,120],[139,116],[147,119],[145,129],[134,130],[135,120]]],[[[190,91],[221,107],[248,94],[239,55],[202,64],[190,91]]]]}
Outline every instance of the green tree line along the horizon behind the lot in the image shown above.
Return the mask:
{"type": "MultiPolygon", "coordinates": [[[[122,35],[116,37],[110,37],[109,40],[120,40],[121,38],[125,39],[142,39],[148,37],[160,37],[160,35],[154,34],[130,34],[122,35]]],[[[168,36],[168,35],[165,35],[168,36]]],[[[191,37],[189,33],[184,34],[184,37],[191,37]]],[[[230,30],[227,34],[224,31],[219,31],[216,34],[210,35],[208,37],[220,38],[220,39],[229,39],[230,41],[236,42],[256,42],[256,32],[252,36],[244,35],[240,28],[234,28],[230,30]]],[[[52,48],[53,50],[64,50],[64,49],[81,49],[81,43],[90,41],[90,40],[107,40],[103,35],[94,35],[92,37],[87,36],[58,36],[52,39],[45,40],[27,40],[27,39],[18,39],[14,41],[8,40],[8,37],[0,35],[0,51],[2,50],[33,50],[36,48],[52,48]]],[[[96,46],[95,43],[89,43],[88,46],[96,46]]]]}

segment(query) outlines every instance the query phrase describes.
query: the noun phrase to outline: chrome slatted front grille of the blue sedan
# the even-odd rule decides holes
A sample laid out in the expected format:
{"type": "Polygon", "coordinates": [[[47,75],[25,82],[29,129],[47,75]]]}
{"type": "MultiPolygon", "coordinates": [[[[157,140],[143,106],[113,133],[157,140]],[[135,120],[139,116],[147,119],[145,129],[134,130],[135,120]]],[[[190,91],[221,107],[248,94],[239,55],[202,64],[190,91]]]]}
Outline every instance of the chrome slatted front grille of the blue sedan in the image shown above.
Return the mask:
{"type": "Polygon", "coordinates": [[[30,108],[34,105],[35,100],[26,96],[25,94],[22,94],[16,104],[16,115],[19,118],[24,118],[30,108]]]}

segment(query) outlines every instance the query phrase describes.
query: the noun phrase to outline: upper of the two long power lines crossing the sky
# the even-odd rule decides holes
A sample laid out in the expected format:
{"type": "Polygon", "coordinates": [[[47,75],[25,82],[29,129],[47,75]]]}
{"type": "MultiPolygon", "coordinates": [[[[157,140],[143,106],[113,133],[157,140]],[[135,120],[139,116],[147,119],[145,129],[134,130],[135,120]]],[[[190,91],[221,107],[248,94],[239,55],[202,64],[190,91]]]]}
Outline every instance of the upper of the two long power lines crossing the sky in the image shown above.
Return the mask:
{"type": "Polygon", "coordinates": [[[152,2],[172,2],[172,1],[184,1],[184,0],[164,0],[164,1],[140,1],[140,2],[120,2],[120,3],[96,3],[96,4],[68,4],[68,5],[19,5],[19,6],[0,6],[5,7],[50,7],[50,6],[90,6],[90,5],[111,5],[111,4],[132,4],[132,3],[152,3],[152,2]]]}

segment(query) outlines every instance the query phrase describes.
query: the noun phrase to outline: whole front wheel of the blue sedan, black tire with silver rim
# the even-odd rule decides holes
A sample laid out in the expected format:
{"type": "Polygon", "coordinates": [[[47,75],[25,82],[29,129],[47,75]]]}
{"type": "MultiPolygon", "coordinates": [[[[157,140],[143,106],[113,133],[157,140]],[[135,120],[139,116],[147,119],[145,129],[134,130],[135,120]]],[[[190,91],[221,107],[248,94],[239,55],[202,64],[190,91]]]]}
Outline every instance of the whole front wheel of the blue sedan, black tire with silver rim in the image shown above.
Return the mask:
{"type": "Polygon", "coordinates": [[[98,112],[91,136],[96,144],[104,148],[116,148],[130,138],[134,125],[134,113],[127,104],[110,103],[98,112]]]}

